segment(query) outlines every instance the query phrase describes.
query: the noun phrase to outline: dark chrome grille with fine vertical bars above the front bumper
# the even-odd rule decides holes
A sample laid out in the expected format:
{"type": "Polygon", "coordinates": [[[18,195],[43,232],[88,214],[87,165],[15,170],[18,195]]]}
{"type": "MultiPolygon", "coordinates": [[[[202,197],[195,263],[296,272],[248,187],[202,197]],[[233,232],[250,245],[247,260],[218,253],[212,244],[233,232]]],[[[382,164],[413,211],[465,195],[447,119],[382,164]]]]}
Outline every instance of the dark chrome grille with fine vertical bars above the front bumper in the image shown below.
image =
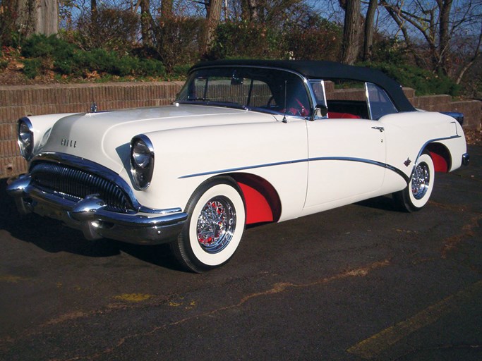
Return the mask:
{"type": "Polygon", "coordinates": [[[133,209],[119,186],[96,174],[64,164],[39,162],[30,169],[30,176],[33,184],[46,192],[59,193],[74,200],[82,200],[88,195],[99,195],[106,202],[107,209],[115,212],[133,209]]]}

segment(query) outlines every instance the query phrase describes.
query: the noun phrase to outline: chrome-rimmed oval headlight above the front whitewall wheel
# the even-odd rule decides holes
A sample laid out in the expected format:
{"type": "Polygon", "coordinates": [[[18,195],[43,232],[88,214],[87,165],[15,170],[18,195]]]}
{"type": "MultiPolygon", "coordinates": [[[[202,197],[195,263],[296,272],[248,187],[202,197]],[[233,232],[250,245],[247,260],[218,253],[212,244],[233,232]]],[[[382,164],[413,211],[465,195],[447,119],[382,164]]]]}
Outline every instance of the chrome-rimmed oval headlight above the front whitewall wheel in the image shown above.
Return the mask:
{"type": "Polygon", "coordinates": [[[131,174],[135,187],[145,190],[154,173],[154,147],[150,139],[141,134],[131,140],[131,174]]]}

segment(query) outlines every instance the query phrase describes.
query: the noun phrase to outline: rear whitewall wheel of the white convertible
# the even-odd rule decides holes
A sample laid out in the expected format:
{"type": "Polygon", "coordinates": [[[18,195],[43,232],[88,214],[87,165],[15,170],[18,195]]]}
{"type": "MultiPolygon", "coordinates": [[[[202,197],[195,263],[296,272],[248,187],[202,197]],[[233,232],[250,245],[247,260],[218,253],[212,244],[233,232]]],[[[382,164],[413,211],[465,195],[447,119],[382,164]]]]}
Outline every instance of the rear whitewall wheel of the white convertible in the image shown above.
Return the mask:
{"type": "Polygon", "coordinates": [[[423,153],[417,161],[409,185],[393,194],[397,206],[406,212],[416,212],[427,204],[433,190],[435,169],[429,154],[423,153]]]}

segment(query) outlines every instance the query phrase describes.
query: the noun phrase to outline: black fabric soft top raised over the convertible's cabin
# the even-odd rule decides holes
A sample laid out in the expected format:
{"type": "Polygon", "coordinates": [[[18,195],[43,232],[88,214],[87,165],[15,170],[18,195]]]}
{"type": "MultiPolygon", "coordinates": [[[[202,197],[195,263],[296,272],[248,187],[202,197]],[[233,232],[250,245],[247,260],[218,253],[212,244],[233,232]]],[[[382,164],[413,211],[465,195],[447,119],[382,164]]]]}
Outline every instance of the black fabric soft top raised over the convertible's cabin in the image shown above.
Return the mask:
{"type": "Polygon", "coordinates": [[[267,66],[282,68],[300,73],[308,79],[347,79],[363,82],[373,82],[382,87],[390,96],[399,111],[414,111],[415,108],[406,99],[402,86],[398,82],[376,69],[363,66],[351,66],[333,61],[303,61],[303,60],[217,60],[197,63],[190,70],[212,66],[267,66]]]}

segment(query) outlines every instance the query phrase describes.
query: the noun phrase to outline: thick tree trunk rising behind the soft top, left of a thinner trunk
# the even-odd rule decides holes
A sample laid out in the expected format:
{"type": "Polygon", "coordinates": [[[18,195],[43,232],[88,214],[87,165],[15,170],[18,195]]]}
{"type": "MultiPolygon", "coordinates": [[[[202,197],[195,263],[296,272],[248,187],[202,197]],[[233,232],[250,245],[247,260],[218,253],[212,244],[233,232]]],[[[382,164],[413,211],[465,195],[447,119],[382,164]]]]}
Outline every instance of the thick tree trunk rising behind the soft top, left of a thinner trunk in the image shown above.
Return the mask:
{"type": "MultiPolygon", "coordinates": [[[[359,54],[360,0],[347,0],[340,61],[353,64],[359,54]]],[[[342,0],[340,0],[340,5],[342,0]]]]}

